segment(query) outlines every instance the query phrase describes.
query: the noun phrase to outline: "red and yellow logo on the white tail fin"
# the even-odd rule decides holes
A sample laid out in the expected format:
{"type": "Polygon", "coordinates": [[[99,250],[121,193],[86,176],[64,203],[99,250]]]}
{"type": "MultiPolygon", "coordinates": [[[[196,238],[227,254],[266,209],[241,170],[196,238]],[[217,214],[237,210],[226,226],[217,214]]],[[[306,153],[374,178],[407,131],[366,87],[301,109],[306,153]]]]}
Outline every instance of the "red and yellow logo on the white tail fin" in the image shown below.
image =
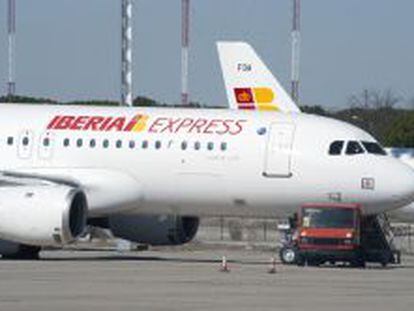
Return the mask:
{"type": "Polygon", "coordinates": [[[239,109],[278,111],[279,107],[274,103],[276,98],[272,89],[259,88],[235,88],[234,95],[239,109]]]}

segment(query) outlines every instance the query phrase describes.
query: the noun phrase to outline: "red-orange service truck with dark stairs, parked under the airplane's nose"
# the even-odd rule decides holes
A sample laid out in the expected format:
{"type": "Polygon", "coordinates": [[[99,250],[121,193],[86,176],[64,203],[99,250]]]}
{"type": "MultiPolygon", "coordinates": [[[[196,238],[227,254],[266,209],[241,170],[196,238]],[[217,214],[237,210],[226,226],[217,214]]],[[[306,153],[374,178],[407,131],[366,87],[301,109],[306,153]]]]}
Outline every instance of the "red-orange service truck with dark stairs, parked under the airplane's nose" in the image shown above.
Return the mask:
{"type": "Polygon", "coordinates": [[[295,228],[280,251],[284,263],[346,262],[354,267],[399,263],[399,254],[390,247],[376,216],[363,216],[357,204],[305,204],[291,223],[295,228]]]}

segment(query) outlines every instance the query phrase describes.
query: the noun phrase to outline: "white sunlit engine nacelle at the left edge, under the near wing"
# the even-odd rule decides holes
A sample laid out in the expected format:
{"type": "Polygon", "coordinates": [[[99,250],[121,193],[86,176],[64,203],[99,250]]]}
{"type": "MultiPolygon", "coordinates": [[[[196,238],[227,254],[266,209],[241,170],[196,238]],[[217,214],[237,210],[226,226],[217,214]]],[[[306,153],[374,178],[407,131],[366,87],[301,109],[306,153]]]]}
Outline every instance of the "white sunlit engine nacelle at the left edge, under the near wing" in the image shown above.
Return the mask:
{"type": "Polygon", "coordinates": [[[0,188],[0,238],[28,245],[61,246],[86,227],[86,196],[80,189],[39,184],[0,188]]]}

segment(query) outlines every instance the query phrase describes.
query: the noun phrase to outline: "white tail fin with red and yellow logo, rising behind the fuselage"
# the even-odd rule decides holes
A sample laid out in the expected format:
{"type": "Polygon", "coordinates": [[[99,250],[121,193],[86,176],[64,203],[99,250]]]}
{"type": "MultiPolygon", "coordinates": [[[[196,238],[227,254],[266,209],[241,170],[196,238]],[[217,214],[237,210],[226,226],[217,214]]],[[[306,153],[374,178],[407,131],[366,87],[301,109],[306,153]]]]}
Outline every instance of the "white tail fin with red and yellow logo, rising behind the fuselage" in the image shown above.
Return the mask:
{"type": "Polygon", "coordinates": [[[230,109],[300,112],[254,49],[245,42],[218,42],[230,109]]]}

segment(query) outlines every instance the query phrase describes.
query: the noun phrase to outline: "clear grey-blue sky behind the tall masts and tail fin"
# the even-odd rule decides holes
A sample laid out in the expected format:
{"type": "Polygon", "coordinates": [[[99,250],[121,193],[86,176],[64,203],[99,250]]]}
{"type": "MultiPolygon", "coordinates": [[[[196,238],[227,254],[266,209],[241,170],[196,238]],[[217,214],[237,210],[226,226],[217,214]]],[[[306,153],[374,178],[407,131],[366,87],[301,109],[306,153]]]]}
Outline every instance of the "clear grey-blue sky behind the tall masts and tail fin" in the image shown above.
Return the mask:
{"type": "MultiPolygon", "coordinates": [[[[135,0],[134,91],[180,100],[180,0],[135,0]]],[[[0,87],[7,82],[0,0],[0,87]]],[[[17,0],[18,93],[119,99],[120,0],[17,0]]],[[[414,1],[303,0],[303,103],[346,105],[364,88],[414,97],[414,1]]],[[[291,0],[192,0],[191,99],[224,105],[217,40],[250,42],[289,86],[291,0]]]]}

